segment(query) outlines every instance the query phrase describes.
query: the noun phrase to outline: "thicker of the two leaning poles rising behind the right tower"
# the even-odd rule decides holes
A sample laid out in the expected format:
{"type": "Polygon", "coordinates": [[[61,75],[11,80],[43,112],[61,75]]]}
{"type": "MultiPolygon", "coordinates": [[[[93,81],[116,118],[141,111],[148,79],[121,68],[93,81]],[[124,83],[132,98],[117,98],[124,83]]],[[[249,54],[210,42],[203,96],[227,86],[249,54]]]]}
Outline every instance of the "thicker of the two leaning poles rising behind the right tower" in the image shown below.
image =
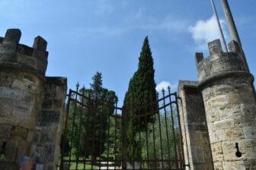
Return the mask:
{"type": "Polygon", "coordinates": [[[229,32],[231,34],[231,37],[232,37],[233,40],[238,42],[240,44],[240,46],[242,47],[242,43],[241,43],[240,38],[238,36],[238,31],[236,30],[236,27],[235,27],[235,21],[233,19],[232,13],[231,13],[230,8],[229,8],[229,2],[227,0],[222,0],[222,7],[223,7],[223,11],[224,11],[225,16],[226,16],[226,21],[227,21],[227,24],[229,26],[229,32]]]}

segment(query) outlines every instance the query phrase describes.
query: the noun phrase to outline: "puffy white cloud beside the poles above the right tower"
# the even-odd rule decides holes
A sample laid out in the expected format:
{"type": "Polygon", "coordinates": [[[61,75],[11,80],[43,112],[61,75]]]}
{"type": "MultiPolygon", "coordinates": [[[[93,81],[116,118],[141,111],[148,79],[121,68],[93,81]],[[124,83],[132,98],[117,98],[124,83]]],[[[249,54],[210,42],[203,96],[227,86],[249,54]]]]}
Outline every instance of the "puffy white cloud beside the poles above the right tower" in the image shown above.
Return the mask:
{"type": "MultiPolygon", "coordinates": [[[[224,36],[227,37],[225,30],[225,21],[220,20],[224,36]]],[[[197,24],[188,27],[188,31],[191,33],[194,42],[197,45],[197,49],[206,50],[207,43],[214,39],[220,39],[219,27],[216,21],[216,17],[213,15],[208,20],[198,20],[197,24]]]]}

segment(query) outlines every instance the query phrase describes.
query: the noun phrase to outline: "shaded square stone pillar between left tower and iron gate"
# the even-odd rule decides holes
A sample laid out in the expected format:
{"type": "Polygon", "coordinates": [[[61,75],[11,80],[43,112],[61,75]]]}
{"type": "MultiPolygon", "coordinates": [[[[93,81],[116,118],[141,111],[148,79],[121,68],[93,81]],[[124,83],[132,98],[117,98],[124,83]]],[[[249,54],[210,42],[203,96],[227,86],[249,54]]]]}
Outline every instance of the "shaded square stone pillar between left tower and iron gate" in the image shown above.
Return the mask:
{"type": "Polygon", "coordinates": [[[31,155],[47,170],[56,169],[59,163],[66,83],[63,77],[46,77],[42,109],[37,115],[31,155]]]}

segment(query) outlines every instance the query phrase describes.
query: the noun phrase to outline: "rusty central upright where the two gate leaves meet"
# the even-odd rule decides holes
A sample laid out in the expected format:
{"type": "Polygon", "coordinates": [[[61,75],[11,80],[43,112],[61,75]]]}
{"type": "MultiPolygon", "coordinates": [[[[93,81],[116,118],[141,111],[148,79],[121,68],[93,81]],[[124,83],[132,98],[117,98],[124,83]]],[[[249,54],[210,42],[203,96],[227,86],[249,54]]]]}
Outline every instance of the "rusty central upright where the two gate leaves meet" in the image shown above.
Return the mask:
{"type": "MultiPolygon", "coordinates": [[[[123,109],[124,111],[124,109],[123,109]]],[[[127,162],[127,117],[126,112],[122,112],[122,169],[126,169],[127,162]]]]}

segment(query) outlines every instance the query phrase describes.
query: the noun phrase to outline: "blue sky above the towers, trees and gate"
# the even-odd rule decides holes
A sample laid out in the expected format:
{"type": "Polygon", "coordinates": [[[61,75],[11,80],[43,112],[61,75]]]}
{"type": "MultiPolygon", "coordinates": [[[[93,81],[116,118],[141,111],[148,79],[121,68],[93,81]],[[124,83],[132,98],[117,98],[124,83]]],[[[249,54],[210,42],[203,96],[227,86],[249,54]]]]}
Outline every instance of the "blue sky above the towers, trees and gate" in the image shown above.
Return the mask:
{"type": "MultiPolygon", "coordinates": [[[[217,10],[230,41],[220,0],[217,10]]],[[[255,0],[229,1],[252,74],[256,74],[255,0]]],[[[19,28],[21,43],[48,42],[47,76],[68,77],[89,87],[96,71],[103,85],[123,95],[149,36],[158,90],[178,80],[197,80],[194,53],[209,55],[206,42],[219,38],[210,0],[0,0],[0,36],[19,28]]]]}

